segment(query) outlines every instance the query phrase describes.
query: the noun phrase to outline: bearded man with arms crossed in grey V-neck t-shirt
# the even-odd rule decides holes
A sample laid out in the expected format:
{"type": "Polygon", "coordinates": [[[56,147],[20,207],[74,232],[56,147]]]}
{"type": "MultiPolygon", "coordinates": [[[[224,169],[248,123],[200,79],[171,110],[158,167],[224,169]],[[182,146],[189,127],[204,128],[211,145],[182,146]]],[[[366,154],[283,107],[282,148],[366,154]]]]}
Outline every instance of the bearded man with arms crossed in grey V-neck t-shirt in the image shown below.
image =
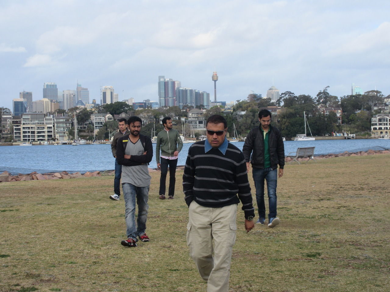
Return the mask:
{"type": "Polygon", "coordinates": [[[125,201],[127,240],[123,246],[137,246],[137,236],[141,241],[149,241],[145,233],[147,204],[151,176],[148,163],[153,157],[152,141],[140,134],[142,120],[132,116],[128,120],[130,134],[118,139],[117,160],[122,167],[122,189],[125,201]],[[135,223],[135,203],[138,205],[137,225],[135,223]]]}

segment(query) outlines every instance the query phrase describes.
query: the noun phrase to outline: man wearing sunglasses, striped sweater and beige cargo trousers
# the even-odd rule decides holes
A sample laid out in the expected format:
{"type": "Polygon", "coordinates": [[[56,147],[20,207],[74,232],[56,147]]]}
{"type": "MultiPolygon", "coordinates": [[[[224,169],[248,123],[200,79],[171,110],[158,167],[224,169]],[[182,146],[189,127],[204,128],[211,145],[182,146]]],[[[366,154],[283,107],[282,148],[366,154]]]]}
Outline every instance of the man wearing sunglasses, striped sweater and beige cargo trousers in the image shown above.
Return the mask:
{"type": "Polygon", "coordinates": [[[215,114],[207,119],[207,139],[191,145],[183,174],[184,199],[189,208],[187,244],[200,276],[207,281],[207,291],[229,290],[239,201],[246,232],[254,228],[245,158],[227,141],[226,130],[223,116],[215,114]]]}

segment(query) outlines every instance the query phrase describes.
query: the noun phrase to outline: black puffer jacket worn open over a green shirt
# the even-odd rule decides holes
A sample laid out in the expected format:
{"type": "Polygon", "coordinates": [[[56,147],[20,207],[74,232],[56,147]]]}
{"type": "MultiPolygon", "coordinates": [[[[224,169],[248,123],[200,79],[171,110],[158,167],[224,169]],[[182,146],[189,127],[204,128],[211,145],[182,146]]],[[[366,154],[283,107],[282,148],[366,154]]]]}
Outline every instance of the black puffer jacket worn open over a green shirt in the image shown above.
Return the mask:
{"type": "MultiPolygon", "coordinates": [[[[246,136],[243,146],[243,153],[246,162],[250,162],[254,168],[264,168],[264,137],[260,129],[261,126],[250,130],[246,136]],[[253,151],[253,153],[252,153],[253,151]],[[252,153],[252,156],[251,156],[252,153]]],[[[284,168],[284,143],[280,131],[269,126],[268,137],[269,159],[271,160],[271,168],[284,168]]]]}

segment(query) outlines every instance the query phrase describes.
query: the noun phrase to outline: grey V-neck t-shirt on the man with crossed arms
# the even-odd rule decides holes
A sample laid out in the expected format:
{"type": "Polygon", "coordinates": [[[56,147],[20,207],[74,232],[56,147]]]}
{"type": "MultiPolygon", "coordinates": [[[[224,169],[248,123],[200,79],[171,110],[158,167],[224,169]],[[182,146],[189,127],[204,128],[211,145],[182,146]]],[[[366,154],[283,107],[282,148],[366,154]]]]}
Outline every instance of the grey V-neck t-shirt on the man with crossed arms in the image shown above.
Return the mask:
{"type": "MultiPolygon", "coordinates": [[[[135,144],[129,139],[124,150],[124,153],[127,155],[143,155],[144,152],[144,146],[142,146],[140,139],[135,144]]],[[[149,175],[147,164],[135,166],[122,165],[122,183],[131,183],[132,185],[142,187],[149,186],[150,181],[151,176],[149,175]]]]}

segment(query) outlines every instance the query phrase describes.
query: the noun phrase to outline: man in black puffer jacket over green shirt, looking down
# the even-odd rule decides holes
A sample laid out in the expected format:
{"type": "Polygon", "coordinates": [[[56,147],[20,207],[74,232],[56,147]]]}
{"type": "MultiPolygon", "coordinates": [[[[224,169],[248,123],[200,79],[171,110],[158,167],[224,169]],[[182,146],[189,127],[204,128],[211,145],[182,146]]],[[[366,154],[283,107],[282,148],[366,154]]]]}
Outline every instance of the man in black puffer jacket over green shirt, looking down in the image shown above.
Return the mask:
{"type": "Polygon", "coordinates": [[[259,127],[253,128],[246,136],[243,153],[248,172],[252,164],[252,176],[256,188],[256,202],[259,209],[259,219],[256,223],[264,224],[266,208],[264,204],[264,179],[267,181],[268,192],[268,227],[280,223],[277,217],[277,178],[283,176],[284,144],[280,131],[272,127],[271,113],[262,109],[259,112],[259,127]],[[252,153],[253,151],[253,153],[252,153]],[[252,156],[251,156],[252,153],[252,156]],[[277,172],[279,164],[279,172],[277,172]]]}

